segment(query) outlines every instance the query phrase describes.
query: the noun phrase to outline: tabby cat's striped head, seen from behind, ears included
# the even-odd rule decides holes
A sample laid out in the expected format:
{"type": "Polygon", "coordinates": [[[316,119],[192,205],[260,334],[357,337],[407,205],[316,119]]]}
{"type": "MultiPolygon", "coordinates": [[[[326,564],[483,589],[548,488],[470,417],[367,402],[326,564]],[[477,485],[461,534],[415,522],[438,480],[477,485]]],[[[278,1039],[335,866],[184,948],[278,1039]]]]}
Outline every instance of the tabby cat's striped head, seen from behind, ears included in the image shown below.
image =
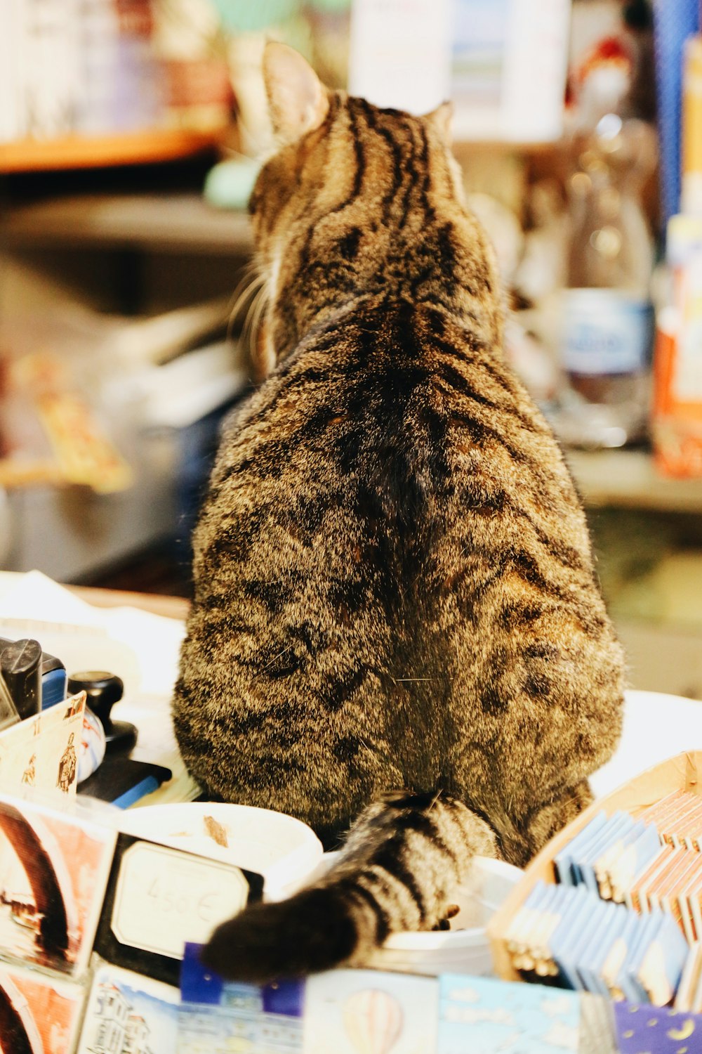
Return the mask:
{"type": "Polygon", "coordinates": [[[445,274],[440,290],[440,272],[454,269],[461,246],[489,256],[463,206],[447,103],[421,117],[379,109],[329,91],[276,42],[263,77],[278,150],[249,202],[268,296],[261,376],[325,312],[410,278],[415,297],[450,293],[460,278],[445,274]]]}

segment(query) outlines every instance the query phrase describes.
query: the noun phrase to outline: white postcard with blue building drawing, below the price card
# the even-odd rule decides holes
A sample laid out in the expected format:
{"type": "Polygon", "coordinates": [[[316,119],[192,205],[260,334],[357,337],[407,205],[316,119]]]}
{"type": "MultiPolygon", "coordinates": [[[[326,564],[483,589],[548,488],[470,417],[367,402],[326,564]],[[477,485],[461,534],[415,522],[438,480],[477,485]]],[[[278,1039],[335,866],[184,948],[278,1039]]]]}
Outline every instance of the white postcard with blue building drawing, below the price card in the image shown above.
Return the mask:
{"type": "Polygon", "coordinates": [[[177,988],[98,960],[77,1054],[172,1054],[179,1003],[177,988]]]}

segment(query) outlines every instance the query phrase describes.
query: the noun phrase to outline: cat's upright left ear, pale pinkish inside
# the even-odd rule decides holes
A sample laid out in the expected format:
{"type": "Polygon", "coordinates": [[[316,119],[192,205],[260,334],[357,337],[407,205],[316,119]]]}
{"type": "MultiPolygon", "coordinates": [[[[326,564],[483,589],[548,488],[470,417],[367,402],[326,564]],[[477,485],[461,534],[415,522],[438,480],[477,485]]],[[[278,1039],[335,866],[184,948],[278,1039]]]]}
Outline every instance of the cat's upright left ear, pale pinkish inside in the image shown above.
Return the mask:
{"type": "Polygon", "coordinates": [[[320,126],[329,109],[328,93],[293,47],[277,40],[266,42],[263,81],[273,128],[283,142],[295,142],[320,126]]]}

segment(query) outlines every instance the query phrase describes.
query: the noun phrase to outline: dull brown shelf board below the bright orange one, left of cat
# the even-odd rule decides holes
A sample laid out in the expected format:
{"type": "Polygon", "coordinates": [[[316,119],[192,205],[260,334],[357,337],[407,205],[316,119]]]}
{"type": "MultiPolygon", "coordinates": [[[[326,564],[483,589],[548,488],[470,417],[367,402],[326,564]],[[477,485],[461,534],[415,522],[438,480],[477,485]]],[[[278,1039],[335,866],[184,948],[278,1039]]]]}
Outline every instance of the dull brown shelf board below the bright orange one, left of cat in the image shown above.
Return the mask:
{"type": "Polygon", "coordinates": [[[214,209],[199,194],[82,194],[7,211],[5,245],[88,245],[186,249],[224,255],[250,252],[246,213],[214,209]]]}

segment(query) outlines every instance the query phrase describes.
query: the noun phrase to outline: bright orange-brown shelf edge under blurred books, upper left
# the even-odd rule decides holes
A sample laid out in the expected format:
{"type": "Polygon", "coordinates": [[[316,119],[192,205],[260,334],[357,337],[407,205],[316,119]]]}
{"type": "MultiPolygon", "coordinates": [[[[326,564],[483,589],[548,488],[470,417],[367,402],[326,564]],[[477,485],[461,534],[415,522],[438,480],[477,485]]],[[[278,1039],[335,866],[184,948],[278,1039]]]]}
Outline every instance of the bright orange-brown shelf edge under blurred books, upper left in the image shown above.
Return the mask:
{"type": "Polygon", "coordinates": [[[190,157],[217,147],[226,134],[218,129],[154,129],[113,136],[66,136],[0,143],[0,173],[97,169],[149,164],[190,157]]]}

